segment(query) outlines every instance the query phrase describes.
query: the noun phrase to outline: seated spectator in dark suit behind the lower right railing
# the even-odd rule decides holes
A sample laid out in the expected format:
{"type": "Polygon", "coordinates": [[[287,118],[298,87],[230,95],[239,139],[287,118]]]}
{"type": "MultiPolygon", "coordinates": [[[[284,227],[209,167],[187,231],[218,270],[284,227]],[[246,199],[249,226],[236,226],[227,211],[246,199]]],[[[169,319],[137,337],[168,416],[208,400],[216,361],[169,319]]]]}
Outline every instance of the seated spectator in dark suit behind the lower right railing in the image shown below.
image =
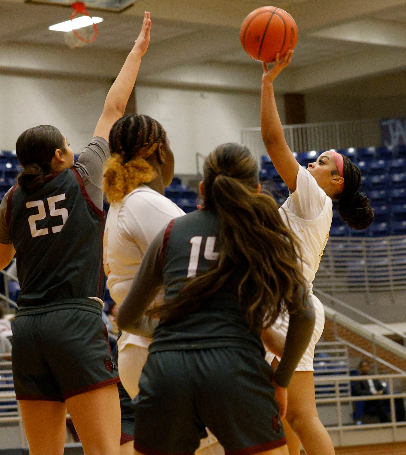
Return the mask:
{"type": "MultiPolygon", "coordinates": [[[[366,360],[361,360],[358,369],[361,376],[370,374],[370,366],[366,360]]],[[[380,379],[365,379],[364,381],[354,381],[352,387],[352,395],[382,395],[386,394],[386,384],[380,379]]],[[[364,402],[364,414],[370,417],[377,416],[381,423],[390,422],[391,419],[386,414],[384,409],[385,400],[371,400],[364,402]]],[[[403,411],[404,412],[404,411],[403,411]]]]}

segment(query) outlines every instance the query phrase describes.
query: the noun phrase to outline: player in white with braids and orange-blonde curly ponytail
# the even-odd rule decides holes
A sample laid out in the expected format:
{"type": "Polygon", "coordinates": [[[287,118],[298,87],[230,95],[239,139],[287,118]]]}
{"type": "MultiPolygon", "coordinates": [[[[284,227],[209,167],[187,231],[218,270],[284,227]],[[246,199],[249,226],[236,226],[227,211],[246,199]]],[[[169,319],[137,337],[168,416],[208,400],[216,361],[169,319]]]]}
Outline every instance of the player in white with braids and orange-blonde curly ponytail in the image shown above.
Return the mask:
{"type": "MultiPolygon", "coordinates": [[[[112,299],[121,305],[149,243],[173,218],[184,215],[164,196],[173,178],[174,158],[166,133],[149,116],[129,114],[110,132],[104,191],[111,203],[103,239],[103,263],[112,299]]],[[[151,339],[123,332],[118,339],[118,371],[133,399],[151,339]]],[[[121,454],[133,454],[133,412],[119,387],[122,407],[121,454]]]]}

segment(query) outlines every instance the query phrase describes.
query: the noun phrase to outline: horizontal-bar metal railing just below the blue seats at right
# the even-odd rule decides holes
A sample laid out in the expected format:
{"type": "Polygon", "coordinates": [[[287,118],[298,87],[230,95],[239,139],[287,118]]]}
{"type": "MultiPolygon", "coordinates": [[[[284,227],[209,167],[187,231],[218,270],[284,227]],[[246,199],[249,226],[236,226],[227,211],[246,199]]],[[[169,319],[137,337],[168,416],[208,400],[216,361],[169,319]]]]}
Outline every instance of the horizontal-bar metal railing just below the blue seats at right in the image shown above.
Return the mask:
{"type": "Polygon", "coordinates": [[[406,289],[406,236],[331,237],[314,284],[335,292],[406,289]]]}

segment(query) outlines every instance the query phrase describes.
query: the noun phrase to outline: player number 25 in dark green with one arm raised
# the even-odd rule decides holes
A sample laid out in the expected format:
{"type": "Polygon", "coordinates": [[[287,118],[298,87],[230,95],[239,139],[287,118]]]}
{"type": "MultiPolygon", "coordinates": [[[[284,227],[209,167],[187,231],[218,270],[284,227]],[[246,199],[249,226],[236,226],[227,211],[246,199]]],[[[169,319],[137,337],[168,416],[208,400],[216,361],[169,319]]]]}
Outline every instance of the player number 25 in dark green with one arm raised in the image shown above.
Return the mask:
{"type": "Polygon", "coordinates": [[[75,165],[53,126],[30,128],[17,140],[24,169],[0,205],[0,268],[16,252],[21,293],[12,366],[32,455],[63,454],[66,410],[85,454],[120,453],[119,378],[101,319],[101,182],[109,132],[124,114],[150,28],[146,13],[93,140],[75,165]]]}

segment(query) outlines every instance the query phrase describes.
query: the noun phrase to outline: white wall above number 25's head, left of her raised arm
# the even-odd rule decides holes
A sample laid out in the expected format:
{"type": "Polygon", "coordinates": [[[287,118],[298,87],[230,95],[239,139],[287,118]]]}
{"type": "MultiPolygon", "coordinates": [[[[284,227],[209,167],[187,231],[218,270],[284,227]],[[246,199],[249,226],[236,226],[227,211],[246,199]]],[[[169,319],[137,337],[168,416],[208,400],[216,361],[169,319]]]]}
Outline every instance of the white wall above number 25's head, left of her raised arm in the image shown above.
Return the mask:
{"type": "Polygon", "coordinates": [[[75,153],[91,141],[110,82],[0,74],[0,149],[15,149],[27,128],[59,128],[75,153]]]}

